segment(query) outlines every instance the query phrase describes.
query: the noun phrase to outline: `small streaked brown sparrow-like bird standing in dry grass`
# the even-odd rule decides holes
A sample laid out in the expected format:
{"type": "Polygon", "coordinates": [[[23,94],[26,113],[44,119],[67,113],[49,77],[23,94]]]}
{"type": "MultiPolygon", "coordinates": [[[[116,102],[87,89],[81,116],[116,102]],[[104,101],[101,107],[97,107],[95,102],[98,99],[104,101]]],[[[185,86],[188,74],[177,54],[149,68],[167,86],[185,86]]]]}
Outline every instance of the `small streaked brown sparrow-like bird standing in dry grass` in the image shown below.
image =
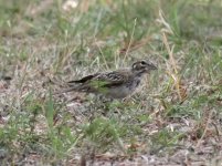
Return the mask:
{"type": "Polygon", "coordinates": [[[109,98],[125,98],[140,84],[142,76],[157,66],[149,61],[140,60],[130,68],[116,71],[98,72],[80,80],[68,81],[62,93],[71,91],[102,94],[109,98]]]}

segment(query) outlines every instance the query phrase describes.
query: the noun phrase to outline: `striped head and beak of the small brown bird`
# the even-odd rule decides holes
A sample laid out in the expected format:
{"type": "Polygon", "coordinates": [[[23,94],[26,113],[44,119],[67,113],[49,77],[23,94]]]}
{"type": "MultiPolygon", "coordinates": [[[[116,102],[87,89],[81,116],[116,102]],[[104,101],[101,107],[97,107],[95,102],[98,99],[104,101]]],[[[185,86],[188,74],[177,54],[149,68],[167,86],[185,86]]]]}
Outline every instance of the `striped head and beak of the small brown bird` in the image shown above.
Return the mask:
{"type": "Polygon", "coordinates": [[[151,70],[157,70],[157,66],[145,60],[137,61],[131,65],[131,71],[136,74],[148,73],[151,70]]]}

